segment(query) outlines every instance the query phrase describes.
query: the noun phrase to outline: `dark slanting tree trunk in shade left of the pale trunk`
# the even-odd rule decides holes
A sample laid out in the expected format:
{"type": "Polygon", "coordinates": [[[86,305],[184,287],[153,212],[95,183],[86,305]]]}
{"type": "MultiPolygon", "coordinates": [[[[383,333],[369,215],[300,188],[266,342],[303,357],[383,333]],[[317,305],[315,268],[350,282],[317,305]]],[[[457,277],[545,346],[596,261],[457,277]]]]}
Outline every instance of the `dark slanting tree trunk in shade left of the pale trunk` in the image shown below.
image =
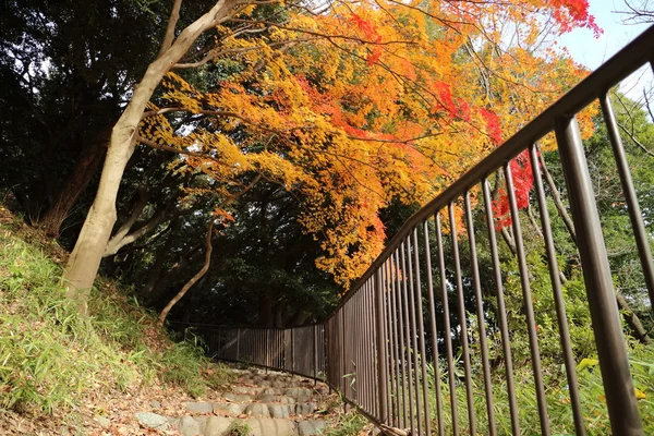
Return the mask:
{"type": "Polygon", "coordinates": [[[40,219],[39,227],[49,237],[59,237],[61,225],[98,170],[107,152],[109,134],[109,129],[104,130],[92,144],[82,149],[75,167],[57,196],[57,199],[40,219]]]}

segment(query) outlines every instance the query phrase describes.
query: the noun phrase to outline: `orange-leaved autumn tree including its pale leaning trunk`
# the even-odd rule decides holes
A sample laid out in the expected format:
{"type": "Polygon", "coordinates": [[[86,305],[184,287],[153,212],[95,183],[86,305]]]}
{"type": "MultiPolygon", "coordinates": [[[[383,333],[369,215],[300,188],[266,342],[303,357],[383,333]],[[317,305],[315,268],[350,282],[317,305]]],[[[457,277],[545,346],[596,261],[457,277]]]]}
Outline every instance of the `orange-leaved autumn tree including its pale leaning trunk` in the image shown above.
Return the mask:
{"type": "Polygon", "coordinates": [[[598,32],[585,0],[220,0],[178,32],[180,11],[113,128],[66,266],[82,310],[137,145],[177,153],[175,171],[204,172],[220,204],[257,178],[292,191],[317,266],[347,287],[383,247],[379,210],[424,203],[543,110],[583,74],[554,37],[598,32]],[[225,73],[199,87],[190,69],[225,73]]]}

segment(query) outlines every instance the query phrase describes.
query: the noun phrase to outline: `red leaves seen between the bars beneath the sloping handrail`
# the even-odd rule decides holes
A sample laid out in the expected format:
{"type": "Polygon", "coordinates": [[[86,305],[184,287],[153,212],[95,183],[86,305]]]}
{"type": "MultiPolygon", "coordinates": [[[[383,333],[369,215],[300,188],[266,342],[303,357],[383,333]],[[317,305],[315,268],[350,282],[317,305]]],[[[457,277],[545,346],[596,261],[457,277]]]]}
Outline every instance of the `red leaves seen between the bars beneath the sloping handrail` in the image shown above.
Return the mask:
{"type": "MultiPolygon", "coordinates": [[[[513,179],[513,190],[516,195],[516,205],[518,209],[526,209],[529,207],[529,193],[534,184],[534,175],[532,172],[531,161],[529,160],[529,150],[519,154],[516,159],[509,164],[511,169],[511,178],[513,179]]],[[[505,189],[499,190],[499,197],[493,201],[493,215],[495,215],[496,230],[501,230],[507,226],[511,226],[511,208],[509,196],[505,189]]]]}

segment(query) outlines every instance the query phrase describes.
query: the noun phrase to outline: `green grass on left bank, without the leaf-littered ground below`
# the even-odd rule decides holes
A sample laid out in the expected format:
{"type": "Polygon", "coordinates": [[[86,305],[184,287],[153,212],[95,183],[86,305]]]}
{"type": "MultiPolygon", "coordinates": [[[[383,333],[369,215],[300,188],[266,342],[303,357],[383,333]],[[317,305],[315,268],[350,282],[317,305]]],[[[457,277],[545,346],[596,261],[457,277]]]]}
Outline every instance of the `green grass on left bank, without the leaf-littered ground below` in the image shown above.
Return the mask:
{"type": "MultiPolygon", "coordinates": [[[[90,391],[160,383],[203,395],[228,382],[197,343],[173,343],[154,314],[101,279],[89,317],[64,298],[61,267],[0,226],[0,409],[71,410],[90,391]]],[[[29,239],[29,238],[28,238],[29,239]]]]}

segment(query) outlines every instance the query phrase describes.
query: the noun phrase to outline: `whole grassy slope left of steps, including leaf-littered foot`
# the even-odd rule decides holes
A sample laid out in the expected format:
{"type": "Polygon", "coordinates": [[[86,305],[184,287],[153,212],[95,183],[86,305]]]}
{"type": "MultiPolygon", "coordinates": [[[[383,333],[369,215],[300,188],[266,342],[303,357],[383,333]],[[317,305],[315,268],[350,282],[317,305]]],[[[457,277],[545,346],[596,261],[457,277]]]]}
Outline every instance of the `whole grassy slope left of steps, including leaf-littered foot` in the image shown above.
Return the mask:
{"type": "Polygon", "coordinates": [[[153,434],[134,426],[133,412],[156,400],[178,414],[184,399],[227,383],[107,280],[96,283],[90,317],[78,316],[60,283],[65,257],[0,205],[1,434],[99,434],[102,415],[114,432],[153,434]]]}

